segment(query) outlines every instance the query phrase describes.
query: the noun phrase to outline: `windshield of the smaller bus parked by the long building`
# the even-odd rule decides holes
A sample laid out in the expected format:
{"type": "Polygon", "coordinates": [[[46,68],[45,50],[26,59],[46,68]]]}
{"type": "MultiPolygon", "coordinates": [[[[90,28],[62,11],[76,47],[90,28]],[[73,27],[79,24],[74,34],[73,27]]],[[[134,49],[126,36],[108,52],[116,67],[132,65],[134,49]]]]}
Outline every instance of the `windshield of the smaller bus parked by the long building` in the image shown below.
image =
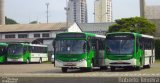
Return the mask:
{"type": "Polygon", "coordinates": [[[20,44],[11,44],[8,46],[8,54],[20,55],[23,53],[23,47],[20,44]]]}

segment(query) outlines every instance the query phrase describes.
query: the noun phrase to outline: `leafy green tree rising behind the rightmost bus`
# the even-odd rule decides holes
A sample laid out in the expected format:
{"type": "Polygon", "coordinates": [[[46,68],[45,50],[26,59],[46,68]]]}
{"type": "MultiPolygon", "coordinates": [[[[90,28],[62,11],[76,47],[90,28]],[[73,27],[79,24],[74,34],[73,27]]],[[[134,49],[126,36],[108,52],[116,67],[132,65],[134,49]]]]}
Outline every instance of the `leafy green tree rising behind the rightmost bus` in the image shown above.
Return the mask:
{"type": "Polygon", "coordinates": [[[109,32],[136,32],[153,35],[156,25],[142,17],[122,18],[109,27],[109,32]]]}

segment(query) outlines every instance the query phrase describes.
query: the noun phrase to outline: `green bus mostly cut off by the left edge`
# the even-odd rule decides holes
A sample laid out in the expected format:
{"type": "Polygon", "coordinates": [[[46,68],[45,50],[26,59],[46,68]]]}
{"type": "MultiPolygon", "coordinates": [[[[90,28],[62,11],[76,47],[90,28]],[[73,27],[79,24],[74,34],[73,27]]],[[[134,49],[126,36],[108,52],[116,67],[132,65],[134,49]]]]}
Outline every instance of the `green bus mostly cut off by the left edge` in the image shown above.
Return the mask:
{"type": "Polygon", "coordinates": [[[7,59],[7,43],[0,43],[0,63],[6,62],[7,59]]]}

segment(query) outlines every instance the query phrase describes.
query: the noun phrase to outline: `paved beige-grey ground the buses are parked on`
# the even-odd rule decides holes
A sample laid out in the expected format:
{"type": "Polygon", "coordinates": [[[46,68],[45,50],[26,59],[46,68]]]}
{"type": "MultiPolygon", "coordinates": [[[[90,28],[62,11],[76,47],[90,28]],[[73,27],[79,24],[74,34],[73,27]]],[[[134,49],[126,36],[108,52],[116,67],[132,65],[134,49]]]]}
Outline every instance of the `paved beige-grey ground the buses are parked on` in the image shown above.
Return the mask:
{"type": "Polygon", "coordinates": [[[69,70],[68,73],[62,73],[61,68],[54,67],[54,64],[51,63],[32,63],[32,64],[0,64],[0,73],[1,74],[23,74],[23,73],[32,73],[32,74],[50,74],[50,75],[91,75],[91,76],[107,76],[107,75],[116,75],[116,74],[160,74],[160,61],[156,61],[151,68],[144,68],[140,71],[135,70],[124,70],[118,69],[114,72],[108,70],[100,70],[99,68],[94,68],[93,72],[83,72],[79,69],[69,70]]]}

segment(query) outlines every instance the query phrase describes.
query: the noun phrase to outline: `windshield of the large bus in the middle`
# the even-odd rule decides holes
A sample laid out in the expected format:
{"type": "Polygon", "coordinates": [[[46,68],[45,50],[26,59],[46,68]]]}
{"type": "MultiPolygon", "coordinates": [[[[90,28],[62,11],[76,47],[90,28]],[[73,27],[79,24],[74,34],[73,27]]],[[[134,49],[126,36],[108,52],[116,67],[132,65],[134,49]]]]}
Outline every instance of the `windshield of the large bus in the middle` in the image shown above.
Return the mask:
{"type": "Polygon", "coordinates": [[[57,54],[82,54],[85,52],[85,40],[57,40],[57,54]]]}

